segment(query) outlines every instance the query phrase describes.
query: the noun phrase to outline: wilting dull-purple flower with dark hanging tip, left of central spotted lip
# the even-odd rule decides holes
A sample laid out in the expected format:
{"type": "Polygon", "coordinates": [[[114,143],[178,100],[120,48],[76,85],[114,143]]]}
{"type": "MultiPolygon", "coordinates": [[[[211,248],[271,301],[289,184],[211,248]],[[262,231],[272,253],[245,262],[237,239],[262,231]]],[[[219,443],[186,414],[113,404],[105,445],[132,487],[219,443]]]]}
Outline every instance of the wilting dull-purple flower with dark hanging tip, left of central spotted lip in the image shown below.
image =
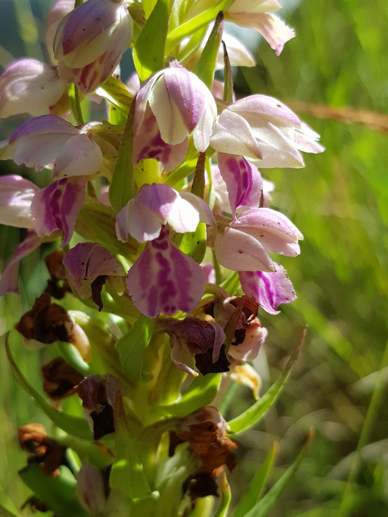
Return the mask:
{"type": "Polygon", "coordinates": [[[102,309],[101,290],[106,279],[113,282],[121,294],[124,291],[124,268],[110,251],[95,242],[81,242],[71,248],[63,259],[70,285],[83,299],[92,296],[102,309]],[[117,278],[116,278],[117,277],[117,278]]]}

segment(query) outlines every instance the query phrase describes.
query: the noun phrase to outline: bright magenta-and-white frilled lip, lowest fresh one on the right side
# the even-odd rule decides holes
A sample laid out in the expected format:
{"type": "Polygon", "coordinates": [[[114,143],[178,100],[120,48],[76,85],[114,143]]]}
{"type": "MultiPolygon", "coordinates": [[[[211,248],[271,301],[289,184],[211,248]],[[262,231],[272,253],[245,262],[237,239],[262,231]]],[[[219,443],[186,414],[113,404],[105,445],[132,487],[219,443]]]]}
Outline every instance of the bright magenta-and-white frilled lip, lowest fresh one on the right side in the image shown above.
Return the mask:
{"type": "Polygon", "coordinates": [[[250,298],[270,314],[278,314],[276,310],[280,303],[290,303],[296,299],[292,283],[287,277],[283,266],[275,264],[276,271],[239,271],[241,288],[250,298]]]}

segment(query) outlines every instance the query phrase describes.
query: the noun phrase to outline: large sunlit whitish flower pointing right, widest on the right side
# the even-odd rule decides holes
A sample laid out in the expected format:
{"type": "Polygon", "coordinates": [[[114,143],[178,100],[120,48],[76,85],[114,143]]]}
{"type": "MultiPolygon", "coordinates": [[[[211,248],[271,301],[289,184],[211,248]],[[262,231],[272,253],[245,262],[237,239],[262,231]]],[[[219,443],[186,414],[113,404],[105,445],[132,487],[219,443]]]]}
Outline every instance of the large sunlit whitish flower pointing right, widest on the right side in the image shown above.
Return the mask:
{"type": "Polygon", "coordinates": [[[210,145],[220,153],[241,155],[260,168],[304,167],[301,153],[322,153],[319,134],[285,104],[250,95],[220,114],[210,145]]]}

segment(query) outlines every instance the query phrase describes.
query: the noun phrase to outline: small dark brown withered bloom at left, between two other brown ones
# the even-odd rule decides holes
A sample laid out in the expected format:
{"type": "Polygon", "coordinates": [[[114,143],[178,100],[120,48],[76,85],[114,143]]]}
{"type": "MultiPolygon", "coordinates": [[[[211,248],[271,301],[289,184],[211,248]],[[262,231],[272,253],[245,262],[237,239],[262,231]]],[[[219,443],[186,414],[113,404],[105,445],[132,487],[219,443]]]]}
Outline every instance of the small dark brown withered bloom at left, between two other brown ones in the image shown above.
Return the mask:
{"type": "Polygon", "coordinates": [[[56,357],[42,367],[43,389],[52,400],[61,400],[76,392],[84,376],[56,357]]]}

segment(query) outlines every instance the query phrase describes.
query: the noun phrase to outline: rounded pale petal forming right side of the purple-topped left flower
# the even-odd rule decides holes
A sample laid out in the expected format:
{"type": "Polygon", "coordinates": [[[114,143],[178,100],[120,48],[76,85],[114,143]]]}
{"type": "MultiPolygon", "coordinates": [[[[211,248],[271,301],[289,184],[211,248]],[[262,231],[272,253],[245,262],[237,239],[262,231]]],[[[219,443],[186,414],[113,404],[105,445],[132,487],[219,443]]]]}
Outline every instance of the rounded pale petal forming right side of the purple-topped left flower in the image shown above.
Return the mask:
{"type": "Polygon", "coordinates": [[[53,178],[68,176],[88,176],[98,172],[102,165],[102,153],[94,140],[87,134],[72,136],[62,148],[56,159],[53,178]]]}

